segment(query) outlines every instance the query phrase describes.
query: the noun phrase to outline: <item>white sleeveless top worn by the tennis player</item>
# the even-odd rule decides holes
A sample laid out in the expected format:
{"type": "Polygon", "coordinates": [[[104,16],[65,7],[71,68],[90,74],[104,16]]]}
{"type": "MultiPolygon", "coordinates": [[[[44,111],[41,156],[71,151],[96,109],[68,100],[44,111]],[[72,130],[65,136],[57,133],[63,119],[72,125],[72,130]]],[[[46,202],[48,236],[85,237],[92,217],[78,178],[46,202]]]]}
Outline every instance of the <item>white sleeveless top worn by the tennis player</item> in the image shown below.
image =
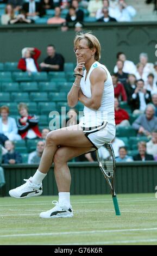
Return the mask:
{"type": "Polygon", "coordinates": [[[101,107],[95,110],[84,106],[84,117],[80,121],[80,125],[84,127],[95,127],[102,125],[103,121],[115,125],[114,86],[112,84],[112,78],[108,69],[99,62],[93,63],[87,77],[86,70],[84,70],[84,77],[81,78],[80,87],[86,97],[91,97],[90,75],[93,69],[98,67],[101,67],[106,71],[108,78],[104,82],[104,92],[102,95],[101,107]]]}

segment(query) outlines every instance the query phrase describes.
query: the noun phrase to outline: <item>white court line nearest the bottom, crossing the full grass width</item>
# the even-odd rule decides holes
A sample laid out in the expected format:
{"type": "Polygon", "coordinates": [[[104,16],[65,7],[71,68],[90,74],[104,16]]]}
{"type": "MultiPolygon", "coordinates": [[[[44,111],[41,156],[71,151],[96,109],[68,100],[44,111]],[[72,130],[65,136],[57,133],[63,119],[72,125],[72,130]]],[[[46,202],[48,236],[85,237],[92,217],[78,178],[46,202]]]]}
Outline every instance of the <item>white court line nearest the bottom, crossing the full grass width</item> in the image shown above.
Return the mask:
{"type": "Polygon", "coordinates": [[[0,237],[18,237],[18,236],[49,236],[49,235],[78,235],[78,234],[96,234],[96,233],[121,233],[121,232],[135,232],[135,231],[155,231],[157,228],[133,228],[133,229],[110,229],[110,230],[91,230],[91,231],[70,231],[70,232],[56,232],[56,233],[29,233],[29,234],[12,234],[0,235],[0,237]]]}

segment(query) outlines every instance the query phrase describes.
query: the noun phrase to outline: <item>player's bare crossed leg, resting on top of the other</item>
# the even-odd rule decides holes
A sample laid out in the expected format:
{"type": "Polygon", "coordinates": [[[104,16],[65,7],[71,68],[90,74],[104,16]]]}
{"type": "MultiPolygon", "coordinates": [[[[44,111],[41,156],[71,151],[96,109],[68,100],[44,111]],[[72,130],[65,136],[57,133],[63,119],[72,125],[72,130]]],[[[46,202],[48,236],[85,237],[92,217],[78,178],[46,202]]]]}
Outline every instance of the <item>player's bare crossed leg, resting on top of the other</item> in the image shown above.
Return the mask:
{"type": "Polygon", "coordinates": [[[53,157],[58,150],[58,146],[67,147],[92,147],[90,141],[85,137],[83,130],[78,128],[79,125],[65,127],[48,133],[46,138],[45,149],[41,157],[39,171],[47,173],[52,165],[53,157]]]}

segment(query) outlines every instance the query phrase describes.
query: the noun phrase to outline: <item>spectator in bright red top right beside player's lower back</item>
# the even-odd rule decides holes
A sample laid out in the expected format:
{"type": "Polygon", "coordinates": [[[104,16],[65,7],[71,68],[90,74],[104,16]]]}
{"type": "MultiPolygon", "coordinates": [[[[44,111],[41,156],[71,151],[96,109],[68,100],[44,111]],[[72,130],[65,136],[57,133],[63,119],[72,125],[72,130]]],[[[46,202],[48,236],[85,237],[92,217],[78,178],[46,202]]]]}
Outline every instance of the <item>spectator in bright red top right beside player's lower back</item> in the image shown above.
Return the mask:
{"type": "Polygon", "coordinates": [[[120,103],[115,98],[115,123],[120,124],[123,120],[129,120],[129,115],[125,109],[119,107],[120,103]]]}

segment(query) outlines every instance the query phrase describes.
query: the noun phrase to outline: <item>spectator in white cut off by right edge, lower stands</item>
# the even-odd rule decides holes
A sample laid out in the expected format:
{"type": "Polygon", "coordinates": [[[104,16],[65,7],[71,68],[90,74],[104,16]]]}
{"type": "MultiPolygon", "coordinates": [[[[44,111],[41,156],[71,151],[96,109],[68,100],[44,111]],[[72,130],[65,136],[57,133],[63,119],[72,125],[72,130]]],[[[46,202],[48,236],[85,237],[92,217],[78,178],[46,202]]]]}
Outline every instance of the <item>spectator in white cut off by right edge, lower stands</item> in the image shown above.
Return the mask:
{"type": "Polygon", "coordinates": [[[152,139],[146,143],[147,154],[153,155],[154,159],[157,156],[157,130],[152,132],[152,139]]]}

